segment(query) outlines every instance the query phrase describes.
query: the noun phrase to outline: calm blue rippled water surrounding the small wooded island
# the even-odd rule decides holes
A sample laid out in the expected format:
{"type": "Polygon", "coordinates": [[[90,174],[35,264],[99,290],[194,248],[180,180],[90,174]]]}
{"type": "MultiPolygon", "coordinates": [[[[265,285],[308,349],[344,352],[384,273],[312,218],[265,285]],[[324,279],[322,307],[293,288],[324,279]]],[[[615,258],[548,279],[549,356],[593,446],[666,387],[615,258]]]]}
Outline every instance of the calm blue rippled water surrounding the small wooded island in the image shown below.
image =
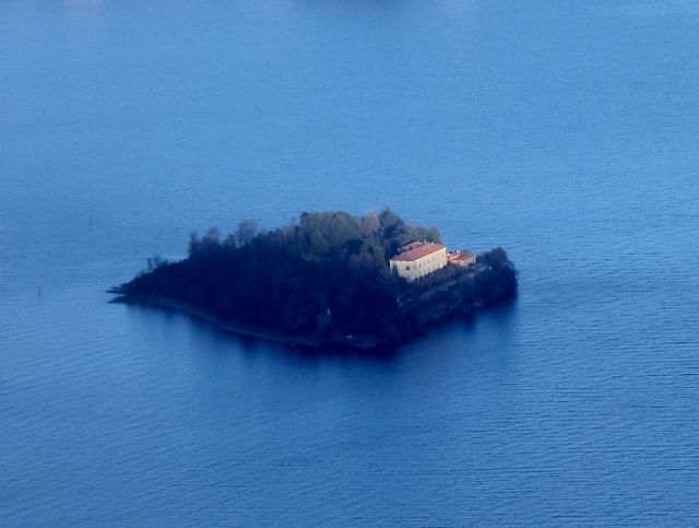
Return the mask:
{"type": "Polygon", "coordinates": [[[0,525],[697,525],[698,49],[695,0],[3,0],[0,525]],[[366,357],[107,303],[383,204],[519,300],[366,357]]]}

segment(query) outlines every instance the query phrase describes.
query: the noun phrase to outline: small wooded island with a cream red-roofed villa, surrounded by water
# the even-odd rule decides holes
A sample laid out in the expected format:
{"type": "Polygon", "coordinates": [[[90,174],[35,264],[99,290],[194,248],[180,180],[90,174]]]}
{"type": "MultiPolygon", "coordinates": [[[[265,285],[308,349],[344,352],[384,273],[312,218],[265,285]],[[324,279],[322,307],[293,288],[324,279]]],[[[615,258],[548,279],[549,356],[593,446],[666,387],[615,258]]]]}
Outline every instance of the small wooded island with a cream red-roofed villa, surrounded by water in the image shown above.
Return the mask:
{"type": "Polygon", "coordinates": [[[313,348],[392,347],[437,321],[507,302],[517,270],[502,248],[449,250],[437,227],[391,209],[303,213],[260,232],[192,234],[188,258],[153,257],[112,302],[174,308],[240,336],[313,348]]]}

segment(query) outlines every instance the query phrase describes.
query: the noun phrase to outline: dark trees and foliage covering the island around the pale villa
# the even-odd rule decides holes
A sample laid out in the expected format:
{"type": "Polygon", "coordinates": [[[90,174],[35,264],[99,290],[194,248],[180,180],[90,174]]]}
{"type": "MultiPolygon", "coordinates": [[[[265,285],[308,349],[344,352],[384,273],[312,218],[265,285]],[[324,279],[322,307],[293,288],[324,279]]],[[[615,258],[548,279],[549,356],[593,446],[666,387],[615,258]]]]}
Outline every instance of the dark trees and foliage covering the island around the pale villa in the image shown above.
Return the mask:
{"type": "MultiPolygon", "coordinates": [[[[193,234],[187,259],[151,261],[147,272],[121,291],[178,301],[224,321],[284,335],[371,335],[387,341],[419,327],[399,300],[419,304],[434,294],[429,281],[408,284],[391,273],[388,257],[414,239],[438,242],[439,231],[411,227],[390,209],[364,216],[303,213],[297,223],[263,233],[244,221],[233,235],[221,238],[216,228],[201,238],[193,234]]],[[[489,303],[517,288],[505,251],[485,258],[483,278],[451,269],[449,275],[434,279],[446,292],[442,297],[489,303]],[[513,285],[500,284],[508,270],[513,285]]]]}

